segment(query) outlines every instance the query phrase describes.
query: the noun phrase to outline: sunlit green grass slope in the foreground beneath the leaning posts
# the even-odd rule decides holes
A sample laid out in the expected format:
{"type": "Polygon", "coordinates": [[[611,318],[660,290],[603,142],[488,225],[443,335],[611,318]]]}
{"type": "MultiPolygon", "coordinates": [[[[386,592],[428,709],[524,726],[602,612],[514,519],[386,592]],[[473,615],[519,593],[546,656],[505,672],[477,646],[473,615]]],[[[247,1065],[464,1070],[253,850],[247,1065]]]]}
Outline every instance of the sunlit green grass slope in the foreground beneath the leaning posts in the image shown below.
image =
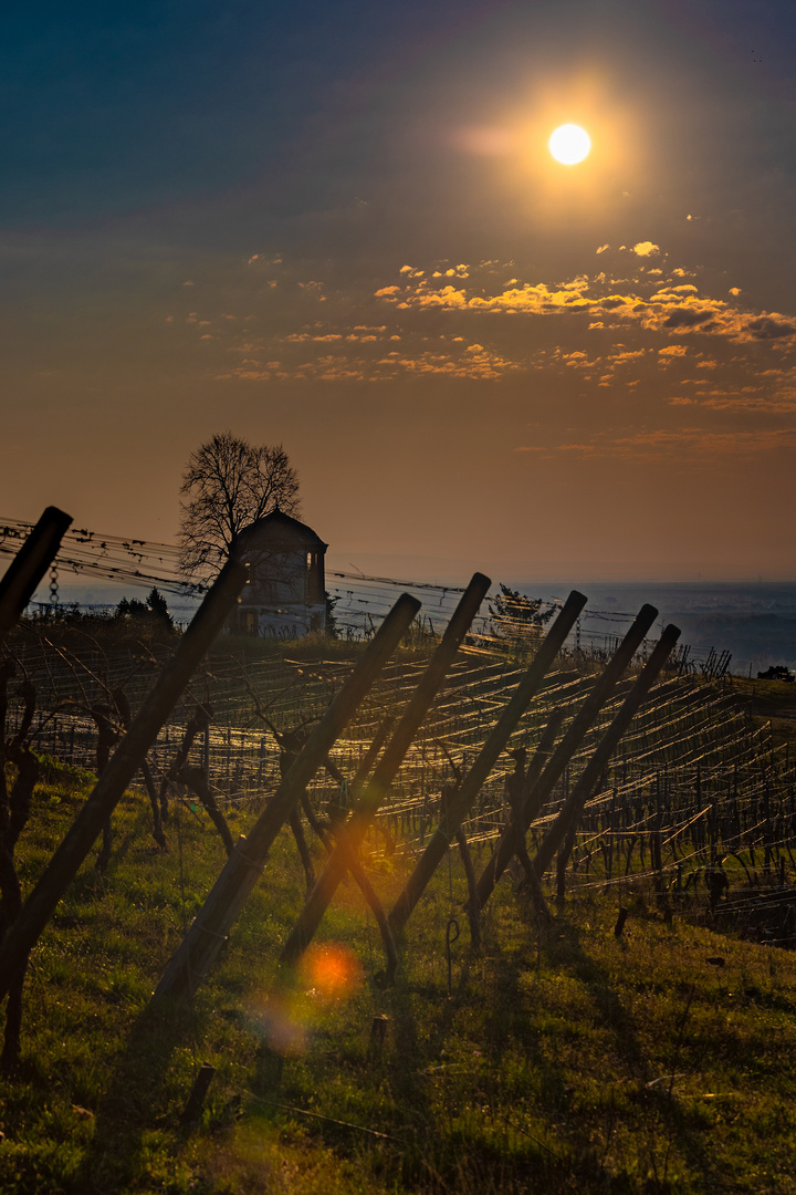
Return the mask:
{"type": "MultiPolygon", "coordinates": [[[[48,777],[18,847],[26,889],[85,797],[79,776],[48,777]]],[[[669,927],[640,887],[623,891],[619,939],[616,891],[597,889],[541,936],[506,882],[474,954],[453,858],[408,924],[394,988],[374,982],[378,934],[351,883],[325,949],[283,975],[303,895],[283,835],[193,1005],[155,1018],[149,994],[223,848],[183,807],[156,852],[147,814],[125,797],[109,872],[84,868],[35,951],[21,1064],[0,1080],[0,1191],[796,1193],[790,952],[692,924],[686,906],[669,927]],[[203,1061],[216,1074],[186,1126],[203,1061]]],[[[230,817],[245,833],[254,810],[230,817]]],[[[388,905],[403,866],[371,860],[388,905]]]]}

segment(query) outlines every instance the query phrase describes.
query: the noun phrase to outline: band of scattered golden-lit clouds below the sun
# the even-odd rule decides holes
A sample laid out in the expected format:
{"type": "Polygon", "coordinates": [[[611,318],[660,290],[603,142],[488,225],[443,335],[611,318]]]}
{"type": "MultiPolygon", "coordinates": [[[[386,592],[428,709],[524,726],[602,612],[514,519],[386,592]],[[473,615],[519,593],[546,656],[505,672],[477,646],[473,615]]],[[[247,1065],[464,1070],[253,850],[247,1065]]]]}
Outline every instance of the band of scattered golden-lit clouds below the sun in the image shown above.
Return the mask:
{"type": "MultiPolygon", "coordinates": [[[[643,256],[638,246],[652,244],[638,241],[633,252],[643,256]]],[[[653,247],[665,265],[666,253],[653,247]]],[[[280,266],[283,304],[260,272],[240,314],[230,318],[227,295],[216,312],[184,311],[175,319],[192,325],[197,338],[212,335],[203,345],[205,362],[214,353],[233,355],[232,367],[229,357],[218,358],[216,376],[246,381],[496,382],[524,370],[536,375],[535,385],[549,375],[551,393],[574,403],[603,390],[668,418],[672,406],[705,417],[796,411],[796,317],[743,310],[726,283],[723,298],[714,298],[683,266],[617,277],[610,258],[601,256],[600,265],[606,268],[554,280],[529,276],[517,262],[438,259],[333,290],[317,266],[300,277],[322,281],[300,283],[288,263],[280,266]]],[[[189,296],[197,306],[196,290],[181,294],[185,308],[189,296]]],[[[204,292],[203,301],[210,302],[204,292]]]]}

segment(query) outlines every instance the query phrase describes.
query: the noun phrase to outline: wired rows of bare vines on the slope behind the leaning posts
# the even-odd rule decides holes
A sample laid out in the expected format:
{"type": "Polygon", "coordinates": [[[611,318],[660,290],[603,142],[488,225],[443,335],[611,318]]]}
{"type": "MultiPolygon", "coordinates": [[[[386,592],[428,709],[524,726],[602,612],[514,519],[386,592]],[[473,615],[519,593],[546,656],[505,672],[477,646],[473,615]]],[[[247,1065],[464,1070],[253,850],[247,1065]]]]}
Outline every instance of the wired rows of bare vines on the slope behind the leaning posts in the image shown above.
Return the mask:
{"type": "MultiPolygon", "coordinates": [[[[160,730],[149,755],[160,789],[192,712],[197,706],[211,711],[185,764],[205,773],[222,811],[260,807],[280,776],[282,753],[270,728],[288,733],[317,721],[357,658],[351,645],[347,651],[331,645],[332,658],[322,652],[313,655],[307,648],[301,658],[292,658],[286,645],[264,660],[246,658],[245,646],[240,655],[232,644],[216,649],[160,730]]],[[[397,716],[424,672],[422,657],[428,650],[405,650],[405,658],[383,670],[335,743],[334,761],[345,776],[354,774],[378,727],[397,716]]],[[[648,645],[642,648],[642,657],[644,651],[649,651],[648,645]]],[[[31,747],[88,771],[97,768],[98,709],[107,712],[113,694],[124,694],[127,705],[136,709],[161,662],[156,654],[143,654],[141,644],[135,651],[116,654],[104,652],[99,645],[80,654],[56,650],[48,645],[41,626],[19,632],[12,657],[36,693],[36,712],[26,730],[31,747]]],[[[532,749],[557,707],[574,716],[599,667],[599,660],[564,651],[544,690],[529,704],[508,747],[532,749]]],[[[677,667],[673,670],[677,673],[677,667]]],[[[377,814],[377,821],[389,828],[405,853],[416,852],[433,833],[440,793],[452,779],[451,764],[467,771],[522,675],[523,669],[501,652],[500,644],[483,646],[483,637],[477,648],[461,650],[407,752],[389,799],[377,814]]],[[[564,804],[573,779],[586,766],[622,699],[619,693],[606,703],[573,753],[533,822],[535,844],[564,804]]],[[[25,700],[12,694],[6,735],[18,736],[24,718],[25,700]]],[[[505,782],[511,770],[506,752],[469,813],[464,831],[475,846],[494,840],[505,825],[505,782]]],[[[175,799],[187,799],[184,786],[172,788],[175,799]]],[[[325,809],[337,789],[328,774],[319,773],[308,788],[313,805],[325,809]]],[[[684,899],[689,891],[696,895],[701,884],[708,893],[704,869],[721,862],[732,888],[742,888],[751,899],[757,885],[776,880],[784,883],[785,870],[796,866],[795,801],[796,760],[789,743],[775,741],[770,723],[755,725],[748,701],[732,681],[715,685],[669,676],[652,691],[590,796],[567,884],[621,884],[634,876],[684,899]]],[[[196,807],[196,799],[191,802],[196,807]]],[[[783,918],[788,920],[784,913],[783,918]]]]}

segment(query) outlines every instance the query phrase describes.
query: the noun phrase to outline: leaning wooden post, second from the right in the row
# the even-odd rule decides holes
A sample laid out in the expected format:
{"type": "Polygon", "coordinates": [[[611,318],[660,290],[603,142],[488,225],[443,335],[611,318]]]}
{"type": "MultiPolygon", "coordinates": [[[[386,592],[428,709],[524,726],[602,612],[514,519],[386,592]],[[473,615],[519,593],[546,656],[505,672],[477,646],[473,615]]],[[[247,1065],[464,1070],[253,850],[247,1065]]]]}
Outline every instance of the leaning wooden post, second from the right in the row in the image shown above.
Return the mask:
{"type": "Polygon", "coordinates": [[[508,866],[508,862],[520,844],[523,836],[539,809],[553,792],[556,782],[563,774],[563,770],[582,742],[590,727],[597,719],[598,713],[611,697],[617,681],[641,646],[647,631],[650,629],[658,611],[654,606],[642,606],[636,619],[618,645],[607,664],[603,669],[597,684],[584,701],[578,715],[573,718],[561,742],[553,753],[553,759],[542,772],[538,780],[530,788],[523,808],[522,821],[510,822],[493,852],[489,863],[479,880],[479,900],[481,908],[489,900],[495,889],[495,884],[508,866]]]}

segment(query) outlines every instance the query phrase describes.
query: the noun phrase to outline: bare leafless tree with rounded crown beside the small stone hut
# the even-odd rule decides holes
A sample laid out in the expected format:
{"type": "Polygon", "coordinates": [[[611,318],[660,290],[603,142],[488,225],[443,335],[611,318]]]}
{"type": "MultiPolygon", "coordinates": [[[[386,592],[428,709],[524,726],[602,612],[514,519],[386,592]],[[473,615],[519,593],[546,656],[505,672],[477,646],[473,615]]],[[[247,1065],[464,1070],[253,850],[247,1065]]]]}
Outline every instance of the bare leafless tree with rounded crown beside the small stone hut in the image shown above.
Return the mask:
{"type": "Polygon", "coordinates": [[[180,568],[210,580],[235,537],[276,507],[298,515],[298,474],[282,445],[251,445],[221,431],[189,456],[180,488],[180,568]]]}

